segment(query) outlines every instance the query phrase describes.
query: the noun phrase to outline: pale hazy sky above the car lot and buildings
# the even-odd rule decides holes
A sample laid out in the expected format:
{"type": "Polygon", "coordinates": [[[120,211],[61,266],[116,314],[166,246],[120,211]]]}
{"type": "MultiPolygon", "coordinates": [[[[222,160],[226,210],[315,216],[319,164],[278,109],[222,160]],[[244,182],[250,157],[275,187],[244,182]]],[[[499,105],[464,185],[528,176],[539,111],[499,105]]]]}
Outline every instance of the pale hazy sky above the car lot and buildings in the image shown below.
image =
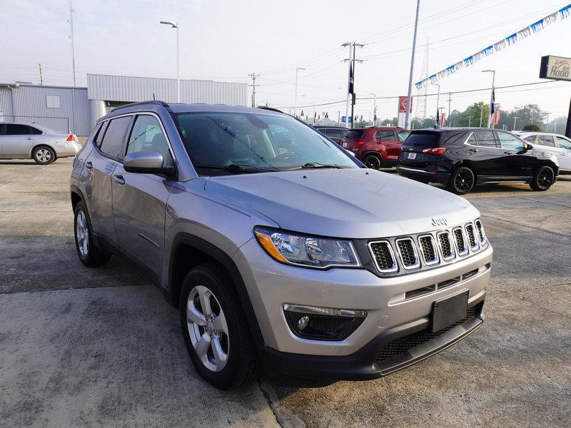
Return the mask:
{"type": "MultiPolygon", "coordinates": [[[[566,6],[570,0],[420,0],[420,22],[413,83],[422,76],[428,44],[428,73],[452,65],[485,46],[566,6]]],[[[0,82],[70,85],[71,45],[66,0],[0,0],[2,61],[0,82]],[[25,17],[25,19],[24,19],[25,17]]],[[[161,20],[180,24],[181,77],[251,83],[260,77],[256,103],[293,111],[295,68],[299,71],[298,108],[345,111],[348,41],[357,49],[355,113],[368,118],[377,94],[378,117],[396,116],[394,97],[406,95],[413,41],[415,0],[276,1],[276,0],[73,0],[76,79],[86,85],[86,73],[124,76],[176,77],[175,30],[161,20]]],[[[571,17],[519,41],[440,81],[440,106],[448,112],[448,92],[542,81],[544,55],[571,57],[571,17]]],[[[436,93],[430,86],[428,93],[436,93]]],[[[417,91],[413,88],[413,96],[417,91]]],[[[489,91],[450,96],[451,110],[489,102],[489,91]]],[[[497,89],[504,109],[538,104],[550,118],[566,116],[571,82],[497,89]]],[[[436,110],[429,96],[427,115],[436,110]]],[[[298,112],[299,113],[299,112],[298,112]]],[[[413,99],[413,115],[415,100],[413,99]]]]}

